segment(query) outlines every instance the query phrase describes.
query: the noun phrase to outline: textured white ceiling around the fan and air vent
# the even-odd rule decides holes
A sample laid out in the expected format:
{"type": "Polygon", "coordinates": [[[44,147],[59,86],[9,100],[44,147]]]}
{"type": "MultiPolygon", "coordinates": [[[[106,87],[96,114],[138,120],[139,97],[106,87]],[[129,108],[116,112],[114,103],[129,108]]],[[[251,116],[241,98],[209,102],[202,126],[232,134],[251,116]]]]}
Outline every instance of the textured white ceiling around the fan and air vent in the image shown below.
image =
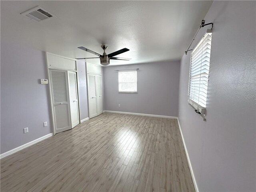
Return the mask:
{"type": "MultiPolygon", "coordinates": [[[[1,41],[70,57],[94,57],[84,46],[107,54],[130,51],[110,60],[134,64],[179,60],[192,40],[212,1],[1,1],[1,41]],[[41,6],[58,18],[41,22],[20,15],[41,6]]],[[[212,21],[206,21],[212,22],[212,21]]],[[[15,53],[14,53],[15,54],[15,53]]],[[[87,62],[99,64],[99,59],[87,62]]]]}

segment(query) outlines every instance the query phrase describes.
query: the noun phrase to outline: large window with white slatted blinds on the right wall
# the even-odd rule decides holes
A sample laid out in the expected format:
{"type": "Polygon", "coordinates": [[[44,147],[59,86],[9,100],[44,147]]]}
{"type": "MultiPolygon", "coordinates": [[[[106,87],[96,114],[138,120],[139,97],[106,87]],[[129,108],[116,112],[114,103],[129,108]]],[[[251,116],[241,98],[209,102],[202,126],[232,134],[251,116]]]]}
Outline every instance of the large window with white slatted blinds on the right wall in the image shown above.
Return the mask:
{"type": "MultiPolygon", "coordinates": [[[[189,103],[196,110],[199,109],[199,112],[206,107],[211,41],[212,33],[206,33],[190,57],[188,98],[189,103]]],[[[201,112],[202,114],[204,114],[204,110],[201,112]]]]}

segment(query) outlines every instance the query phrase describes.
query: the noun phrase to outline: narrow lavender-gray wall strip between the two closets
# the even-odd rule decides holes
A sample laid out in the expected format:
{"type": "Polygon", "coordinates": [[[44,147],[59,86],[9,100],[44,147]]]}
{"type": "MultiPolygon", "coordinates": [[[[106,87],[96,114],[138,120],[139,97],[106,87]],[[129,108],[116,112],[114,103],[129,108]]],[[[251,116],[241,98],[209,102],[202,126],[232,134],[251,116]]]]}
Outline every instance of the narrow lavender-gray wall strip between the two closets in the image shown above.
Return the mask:
{"type": "Polygon", "coordinates": [[[87,86],[86,86],[86,67],[84,61],[77,61],[78,96],[80,120],[88,118],[87,86]]]}

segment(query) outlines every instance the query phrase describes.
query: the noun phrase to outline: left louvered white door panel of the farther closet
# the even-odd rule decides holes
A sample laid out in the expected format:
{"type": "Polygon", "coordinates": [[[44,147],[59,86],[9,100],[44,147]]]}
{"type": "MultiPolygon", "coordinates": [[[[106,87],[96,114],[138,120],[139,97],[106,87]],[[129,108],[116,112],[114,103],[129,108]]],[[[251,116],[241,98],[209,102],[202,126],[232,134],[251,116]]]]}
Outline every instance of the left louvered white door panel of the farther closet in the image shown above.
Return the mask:
{"type": "Polygon", "coordinates": [[[96,75],[88,74],[88,90],[89,90],[89,112],[90,118],[98,115],[97,97],[96,97],[96,75]]]}

